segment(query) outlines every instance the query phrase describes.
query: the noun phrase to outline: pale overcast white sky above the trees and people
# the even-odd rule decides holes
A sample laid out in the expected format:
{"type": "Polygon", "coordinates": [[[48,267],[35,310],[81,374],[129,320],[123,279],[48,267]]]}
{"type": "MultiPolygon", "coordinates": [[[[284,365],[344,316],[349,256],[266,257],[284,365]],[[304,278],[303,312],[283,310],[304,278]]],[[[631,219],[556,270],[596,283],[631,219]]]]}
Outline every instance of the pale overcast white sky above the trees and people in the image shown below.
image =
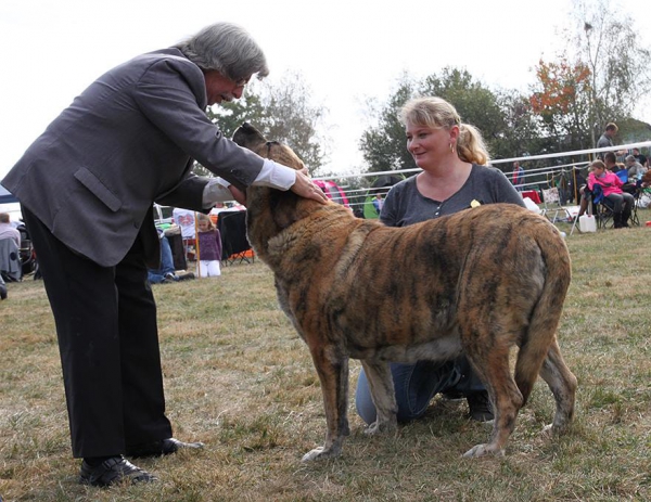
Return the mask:
{"type": "MultiPolygon", "coordinates": [[[[630,8],[637,0],[613,0],[630,8]]],[[[556,59],[571,0],[3,0],[0,179],[47,125],[106,69],[229,21],[263,47],[270,80],[299,73],[329,110],[332,170],[361,166],[367,99],[386,101],[404,72],[468,69],[485,85],[527,90],[556,59]]],[[[646,9],[646,8],[644,8],[646,9]]],[[[647,40],[649,38],[647,37],[647,40]]],[[[640,119],[651,114],[640,110],[640,119]]]]}

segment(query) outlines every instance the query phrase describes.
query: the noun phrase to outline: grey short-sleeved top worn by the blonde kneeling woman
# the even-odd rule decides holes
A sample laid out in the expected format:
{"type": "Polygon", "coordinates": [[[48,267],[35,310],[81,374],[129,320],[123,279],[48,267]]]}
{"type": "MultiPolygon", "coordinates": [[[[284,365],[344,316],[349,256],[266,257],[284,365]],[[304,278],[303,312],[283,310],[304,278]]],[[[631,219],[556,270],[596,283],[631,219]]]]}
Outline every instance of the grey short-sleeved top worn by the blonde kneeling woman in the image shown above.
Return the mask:
{"type": "Polygon", "coordinates": [[[505,173],[495,167],[472,165],[468,180],[445,201],[423,196],[416,186],[416,176],[394,185],[384,201],[380,219],[388,227],[406,227],[439,216],[470,208],[473,201],[480,204],[510,203],[525,207],[522,195],[505,173]]]}

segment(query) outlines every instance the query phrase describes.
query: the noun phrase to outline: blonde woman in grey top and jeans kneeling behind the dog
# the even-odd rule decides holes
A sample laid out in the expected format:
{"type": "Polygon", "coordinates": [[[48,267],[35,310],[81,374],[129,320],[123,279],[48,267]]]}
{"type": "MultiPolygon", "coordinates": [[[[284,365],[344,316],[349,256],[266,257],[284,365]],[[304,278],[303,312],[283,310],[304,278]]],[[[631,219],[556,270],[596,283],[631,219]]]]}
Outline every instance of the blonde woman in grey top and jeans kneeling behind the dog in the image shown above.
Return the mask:
{"type": "MultiPolygon", "coordinates": [[[[488,153],[480,131],[461,123],[455,107],[441,98],[409,101],[400,112],[407,150],[419,175],[391,189],[380,213],[390,227],[409,224],[451,215],[478,204],[524,202],[507,177],[488,167],[488,153]]],[[[452,361],[418,361],[391,364],[398,421],[421,417],[436,394],[465,397],[470,416],[480,422],[493,420],[493,407],[482,381],[465,356],[452,361]]],[[[357,412],[368,424],[375,421],[363,371],[356,394],[357,412]]]]}

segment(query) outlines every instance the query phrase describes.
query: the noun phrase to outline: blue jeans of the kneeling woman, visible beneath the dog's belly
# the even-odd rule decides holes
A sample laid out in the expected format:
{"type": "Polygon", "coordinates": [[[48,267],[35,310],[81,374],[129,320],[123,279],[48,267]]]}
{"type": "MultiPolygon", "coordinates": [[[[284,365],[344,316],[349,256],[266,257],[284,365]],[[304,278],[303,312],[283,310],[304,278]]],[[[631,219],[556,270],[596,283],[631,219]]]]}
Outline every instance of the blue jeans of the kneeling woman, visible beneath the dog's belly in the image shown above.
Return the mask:
{"type": "MultiPolygon", "coordinates": [[[[420,419],[438,392],[469,394],[486,390],[465,356],[452,361],[418,361],[416,364],[391,363],[398,422],[420,419]]],[[[355,392],[357,413],[367,424],[375,422],[375,404],[371,398],[363,369],[355,392]]]]}

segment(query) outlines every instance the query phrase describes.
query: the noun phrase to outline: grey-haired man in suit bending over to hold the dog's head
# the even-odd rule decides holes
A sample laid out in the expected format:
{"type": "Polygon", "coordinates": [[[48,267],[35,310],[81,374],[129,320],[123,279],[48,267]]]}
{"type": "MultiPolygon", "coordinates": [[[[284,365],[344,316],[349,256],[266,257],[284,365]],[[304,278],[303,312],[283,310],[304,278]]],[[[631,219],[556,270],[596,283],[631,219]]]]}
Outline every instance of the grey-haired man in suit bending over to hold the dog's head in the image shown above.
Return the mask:
{"type": "Polygon", "coordinates": [[[305,172],[225,138],[208,105],[239,99],[268,74],[241,27],[217,23],[99,77],[2,180],[22,203],[56,324],[80,482],[148,482],[138,458],[196,449],[173,437],[148,266],[161,259],[152,207],[208,211],[244,189],[291,190],[324,203],[305,172]],[[220,178],[193,176],[197,160],[220,178]]]}

